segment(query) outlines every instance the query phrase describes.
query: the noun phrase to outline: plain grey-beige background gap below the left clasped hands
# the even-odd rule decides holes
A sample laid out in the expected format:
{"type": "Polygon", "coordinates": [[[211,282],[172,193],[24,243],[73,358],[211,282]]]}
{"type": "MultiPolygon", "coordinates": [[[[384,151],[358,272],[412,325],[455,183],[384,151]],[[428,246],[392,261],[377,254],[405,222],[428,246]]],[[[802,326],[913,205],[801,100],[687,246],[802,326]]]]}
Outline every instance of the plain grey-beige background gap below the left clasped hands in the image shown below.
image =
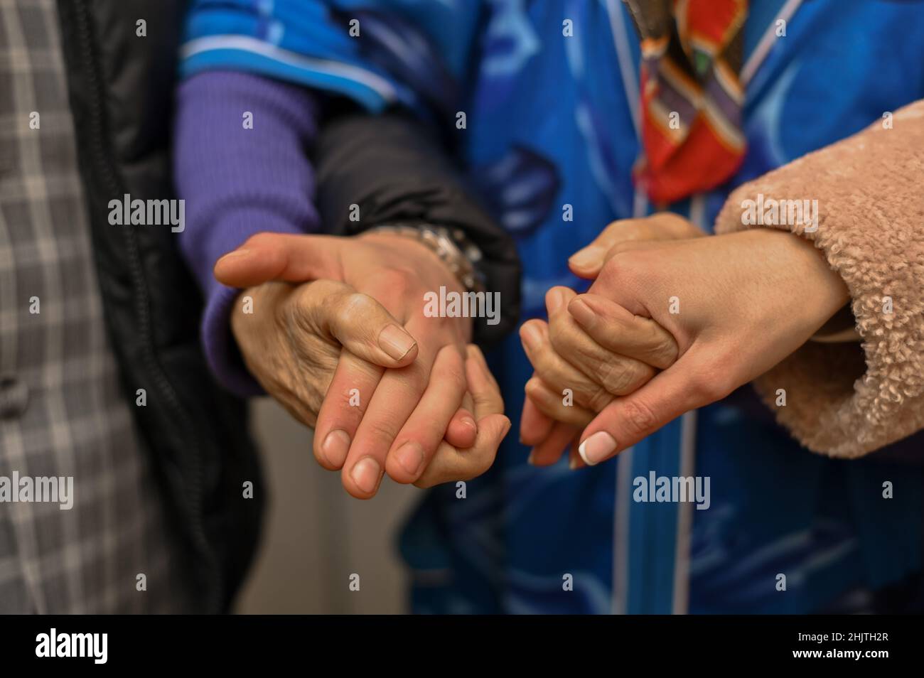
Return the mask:
{"type": "Polygon", "coordinates": [[[368,502],[346,494],[338,474],[318,466],[311,431],[269,398],[251,402],[271,492],[261,549],[237,598],[242,614],[398,614],[407,575],[397,532],[423,490],[385,477],[368,502]],[[349,576],[359,575],[359,591],[349,576]]]}

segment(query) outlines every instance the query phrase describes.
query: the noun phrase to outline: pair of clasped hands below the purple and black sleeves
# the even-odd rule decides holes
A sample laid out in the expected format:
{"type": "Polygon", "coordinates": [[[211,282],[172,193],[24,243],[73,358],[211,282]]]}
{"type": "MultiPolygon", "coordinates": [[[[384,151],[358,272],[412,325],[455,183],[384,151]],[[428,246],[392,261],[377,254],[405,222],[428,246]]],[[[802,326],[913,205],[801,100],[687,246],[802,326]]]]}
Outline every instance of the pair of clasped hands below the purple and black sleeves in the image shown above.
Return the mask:
{"type": "Polygon", "coordinates": [[[470,319],[423,316],[424,292],[458,289],[429,248],[386,234],[261,234],[219,260],[215,276],[248,288],[253,312],[238,305],[232,316],[245,362],[315,427],[315,457],[343,469],[350,494],[370,498],[385,471],[431,485],[490,466],[506,421],[500,394],[492,380],[480,393],[468,384],[470,319]],[[484,435],[472,410],[489,418],[484,435]]]}

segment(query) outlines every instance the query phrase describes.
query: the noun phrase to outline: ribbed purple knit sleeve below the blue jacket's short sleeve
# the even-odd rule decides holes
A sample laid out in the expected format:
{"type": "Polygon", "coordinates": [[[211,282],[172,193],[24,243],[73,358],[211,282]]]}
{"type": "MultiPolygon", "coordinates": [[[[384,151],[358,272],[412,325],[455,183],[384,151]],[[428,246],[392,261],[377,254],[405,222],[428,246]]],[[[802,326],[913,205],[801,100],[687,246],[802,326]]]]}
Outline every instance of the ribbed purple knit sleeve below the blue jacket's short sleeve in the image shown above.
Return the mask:
{"type": "Polygon", "coordinates": [[[306,154],[317,116],[309,91],[247,73],[201,73],[178,91],[174,175],[177,194],[186,200],[179,245],[205,293],[202,343],[209,365],[240,395],[263,391],[231,335],[230,312],[240,290],[218,283],[212,269],[256,233],[317,230],[306,154]]]}

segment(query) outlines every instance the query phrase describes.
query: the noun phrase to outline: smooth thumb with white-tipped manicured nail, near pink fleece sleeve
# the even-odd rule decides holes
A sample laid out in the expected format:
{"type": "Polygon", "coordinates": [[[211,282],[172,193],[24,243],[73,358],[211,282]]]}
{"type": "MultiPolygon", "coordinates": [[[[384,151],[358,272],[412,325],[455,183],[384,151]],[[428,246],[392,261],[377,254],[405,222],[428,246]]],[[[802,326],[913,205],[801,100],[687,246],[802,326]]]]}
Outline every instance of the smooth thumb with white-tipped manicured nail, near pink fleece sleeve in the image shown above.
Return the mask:
{"type": "Polygon", "coordinates": [[[577,452],[584,463],[600,464],[685,412],[721,400],[725,393],[698,385],[698,364],[695,352],[688,351],[638,391],[604,407],[581,433],[577,452]]]}

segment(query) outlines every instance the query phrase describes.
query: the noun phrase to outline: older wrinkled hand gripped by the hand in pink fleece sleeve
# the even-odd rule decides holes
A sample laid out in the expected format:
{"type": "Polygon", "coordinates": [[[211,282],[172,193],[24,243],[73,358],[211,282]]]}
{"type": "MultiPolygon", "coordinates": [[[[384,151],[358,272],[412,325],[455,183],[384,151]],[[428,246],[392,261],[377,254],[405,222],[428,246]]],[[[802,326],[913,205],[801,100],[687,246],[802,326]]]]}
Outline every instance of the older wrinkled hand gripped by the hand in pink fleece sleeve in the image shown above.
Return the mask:
{"type": "MultiPolygon", "coordinates": [[[[696,225],[670,212],[621,220],[609,224],[568,264],[577,275],[593,279],[626,248],[704,235],[696,225]]],[[[670,333],[657,322],[626,311],[608,319],[607,332],[586,332],[567,312],[574,297],[575,292],[566,287],[553,287],[545,297],[549,321],[528,321],[520,329],[523,347],[536,370],[526,384],[520,439],[533,446],[530,461],[538,466],[557,461],[615,396],[636,391],[677,357],[670,333]]],[[[577,444],[571,448],[571,465],[580,466],[577,444]]]]}

